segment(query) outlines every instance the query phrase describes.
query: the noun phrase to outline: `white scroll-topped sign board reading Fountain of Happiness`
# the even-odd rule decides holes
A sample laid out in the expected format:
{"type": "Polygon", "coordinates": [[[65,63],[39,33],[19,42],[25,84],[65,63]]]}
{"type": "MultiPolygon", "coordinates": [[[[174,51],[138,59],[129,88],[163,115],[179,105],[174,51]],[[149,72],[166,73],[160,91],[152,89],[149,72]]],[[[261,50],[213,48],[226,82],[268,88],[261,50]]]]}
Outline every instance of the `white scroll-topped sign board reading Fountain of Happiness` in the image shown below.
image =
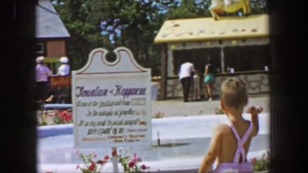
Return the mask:
{"type": "Polygon", "coordinates": [[[138,65],[131,51],[94,49],[88,63],[72,71],[75,148],[151,144],[150,69],[138,65]]]}

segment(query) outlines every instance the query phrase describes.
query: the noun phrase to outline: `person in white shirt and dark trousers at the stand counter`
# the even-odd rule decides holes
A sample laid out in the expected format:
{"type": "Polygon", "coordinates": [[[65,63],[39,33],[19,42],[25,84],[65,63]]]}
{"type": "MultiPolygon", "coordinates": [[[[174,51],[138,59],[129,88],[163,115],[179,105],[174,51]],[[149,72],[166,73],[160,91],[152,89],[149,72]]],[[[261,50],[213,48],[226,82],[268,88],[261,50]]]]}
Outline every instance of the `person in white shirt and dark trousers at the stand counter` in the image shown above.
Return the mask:
{"type": "Polygon", "coordinates": [[[190,59],[187,58],[186,62],[181,65],[179,73],[179,79],[183,88],[184,102],[188,102],[190,82],[191,79],[193,79],[194,72],[194,64],[190,63],[190,59]]]}

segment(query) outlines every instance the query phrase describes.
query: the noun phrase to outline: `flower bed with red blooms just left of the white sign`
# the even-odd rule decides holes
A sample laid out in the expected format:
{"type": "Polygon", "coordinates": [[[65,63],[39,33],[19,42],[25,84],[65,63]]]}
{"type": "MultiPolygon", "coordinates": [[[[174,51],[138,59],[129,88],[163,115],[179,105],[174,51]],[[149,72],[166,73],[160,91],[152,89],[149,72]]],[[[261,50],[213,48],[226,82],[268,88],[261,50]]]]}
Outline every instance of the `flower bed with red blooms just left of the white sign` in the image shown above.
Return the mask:
{"type": "Polygon", "coordinates": [[[39,110],[36,112],[38,126],[69,124],[73,122],[71,109],[39,110]]]}

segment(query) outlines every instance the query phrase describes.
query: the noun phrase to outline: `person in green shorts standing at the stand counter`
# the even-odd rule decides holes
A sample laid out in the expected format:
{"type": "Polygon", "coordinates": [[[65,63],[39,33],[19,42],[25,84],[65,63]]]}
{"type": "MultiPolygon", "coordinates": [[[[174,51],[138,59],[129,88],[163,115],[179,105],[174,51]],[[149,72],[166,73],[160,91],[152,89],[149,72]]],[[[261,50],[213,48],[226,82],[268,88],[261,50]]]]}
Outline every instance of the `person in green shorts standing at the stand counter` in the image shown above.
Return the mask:
{"type": "Polygon", "coordinates": [[[205,92],[208,96],[209,101],[213,100],[212,89],[214,82],[215,82],[214,66],[211,64],[211,58],[208,57],[208,64],[205,66],[205,72],[204,72],[204,83],[205,83],[205,92]]]}

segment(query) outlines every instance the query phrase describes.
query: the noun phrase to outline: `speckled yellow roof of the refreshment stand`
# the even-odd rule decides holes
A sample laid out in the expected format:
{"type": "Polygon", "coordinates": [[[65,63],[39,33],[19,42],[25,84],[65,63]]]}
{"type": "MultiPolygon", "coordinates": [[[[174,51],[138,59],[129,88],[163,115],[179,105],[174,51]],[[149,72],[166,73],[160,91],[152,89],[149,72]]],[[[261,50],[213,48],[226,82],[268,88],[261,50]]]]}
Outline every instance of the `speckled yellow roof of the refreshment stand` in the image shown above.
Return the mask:
{"type": "Polygon", "coordinates": [[[184,42],[209,39],[268,36],[268,15],[248,17],[167,20],[154,42],[184,42]]]}

